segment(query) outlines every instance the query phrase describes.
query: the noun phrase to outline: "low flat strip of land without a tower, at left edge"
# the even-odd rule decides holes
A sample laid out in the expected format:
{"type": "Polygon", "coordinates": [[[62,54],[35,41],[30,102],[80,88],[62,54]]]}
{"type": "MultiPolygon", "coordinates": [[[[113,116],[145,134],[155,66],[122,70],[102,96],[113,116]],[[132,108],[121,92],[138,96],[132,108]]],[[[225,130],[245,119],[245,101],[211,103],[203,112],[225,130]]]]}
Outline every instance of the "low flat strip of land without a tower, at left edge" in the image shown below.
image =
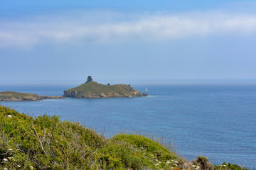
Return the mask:
{"type": "Polygon", "coordinates": [[[64,98],[63,96],[40,96],[37,94],[26,94],[14,91],[0,92],[0,101],[41,101],[48,98],[64,98]]]}

